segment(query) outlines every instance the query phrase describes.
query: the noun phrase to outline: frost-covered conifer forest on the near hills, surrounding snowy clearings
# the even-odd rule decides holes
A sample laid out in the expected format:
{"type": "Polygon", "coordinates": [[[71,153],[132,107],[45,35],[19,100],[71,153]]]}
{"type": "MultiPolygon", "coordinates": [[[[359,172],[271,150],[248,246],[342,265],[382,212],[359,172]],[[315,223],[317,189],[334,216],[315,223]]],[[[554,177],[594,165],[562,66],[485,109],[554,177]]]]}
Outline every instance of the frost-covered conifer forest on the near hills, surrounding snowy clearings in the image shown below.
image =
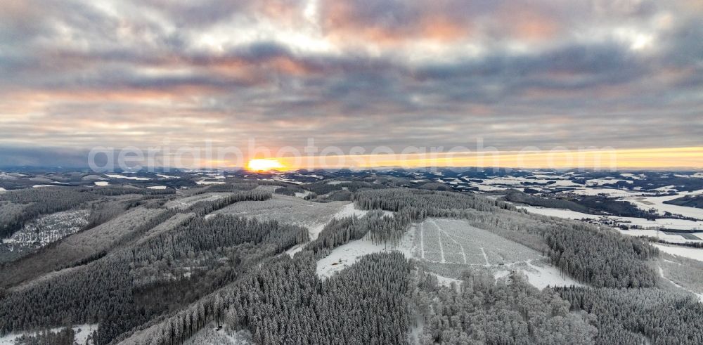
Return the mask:
{"type": "MultiPolygon", "coordinates": [[[[36,330],[18,341],[72,344],[73,331],[64,326],[95,324],[95,344],[197,344],[204,330],[248,332],[256,344],[703,341],[702,304],[660,278],[659,251],[646,239],[470,193],[367,184],[6,193],[8,204],[44,205],[15,212],[15,227],[18,219],[75,207],[89,217],[78,233],[1,266],[0,334],[36,330]],[[298,190],[316,197],[288,196],[298,190]],[[316,233],[295,215],[286,222],[226,213],[251,203],[288,216],[278,208],[348,204],[319,200],[342,191],[360,213],[330,214],[316,233]],[[427,219],[466,221],[534,250],[582,286],[538,289],[520,271],[496,277],[470,265],[442,283],[420,258],[395,250],[427,219]],[[382,251],[330,278],[316,272],[320,259],[359,241],[382,251]]],[[[664,267],[672,276],[680,270],[664,267]]]]}

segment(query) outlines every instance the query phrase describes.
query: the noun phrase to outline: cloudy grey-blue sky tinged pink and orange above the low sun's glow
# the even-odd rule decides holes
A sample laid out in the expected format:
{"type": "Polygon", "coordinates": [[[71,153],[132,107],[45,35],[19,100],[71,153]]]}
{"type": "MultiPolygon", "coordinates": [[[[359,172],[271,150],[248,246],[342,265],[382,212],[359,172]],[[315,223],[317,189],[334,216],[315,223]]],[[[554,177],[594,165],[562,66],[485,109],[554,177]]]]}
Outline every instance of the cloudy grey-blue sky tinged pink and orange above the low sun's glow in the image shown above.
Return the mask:
{"type": "Polygon", "coordinates": [[[703,1],[3,1],[0,166],[311,138],[703,169],[703,1]]]}

